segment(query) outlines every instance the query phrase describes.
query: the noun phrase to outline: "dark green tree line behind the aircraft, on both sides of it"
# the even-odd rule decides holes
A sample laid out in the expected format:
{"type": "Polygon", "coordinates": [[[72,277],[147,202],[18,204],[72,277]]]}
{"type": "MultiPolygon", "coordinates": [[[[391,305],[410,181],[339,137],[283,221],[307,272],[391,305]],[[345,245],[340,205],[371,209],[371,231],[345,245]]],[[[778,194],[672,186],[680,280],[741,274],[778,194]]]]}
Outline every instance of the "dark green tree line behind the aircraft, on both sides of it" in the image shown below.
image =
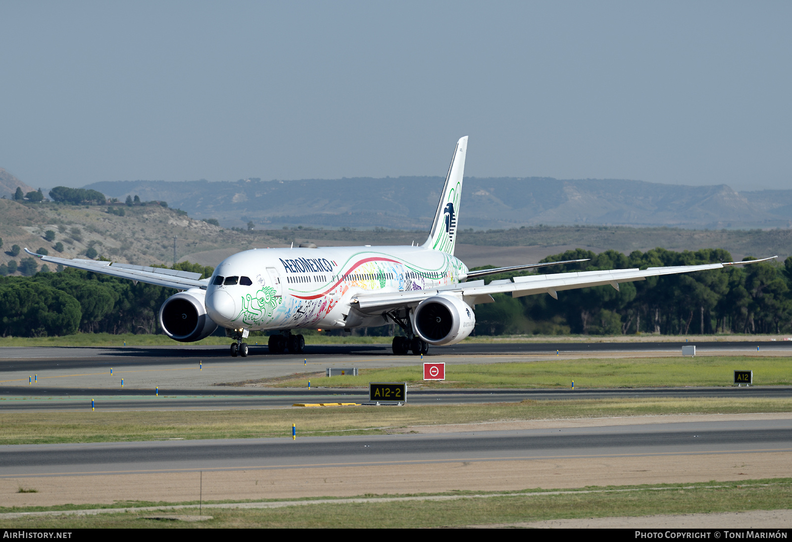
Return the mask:
{"type": "MultiPolygon", "coordinates": [[[[629,256],[607,250],[569,250],[543,261],[590,258],[557,265],[545,273],[699,265],[731,261],[720,249],[672,252],[653,249],[629,256]]],[[[214,269],[183,262],[173,269],[210,277],[214,269]]],[[[506,278],[493,276],[489,280],[506,278]]],[[[497,334],[715,334],[792,333],[792,258],[645,281],[517,299],[496,294],[496,303],[476,307],[478,335],[497,334]]],[[[0,335],[46,336],[84,333],[162,333],[157,315],[176,290],[63,269],[32,277],[0,277],[0,335]]],[[[368,330],[392,334],[394,329],[368,330]],[[389,331],[390,330],[390,331],[389,331]]]]}

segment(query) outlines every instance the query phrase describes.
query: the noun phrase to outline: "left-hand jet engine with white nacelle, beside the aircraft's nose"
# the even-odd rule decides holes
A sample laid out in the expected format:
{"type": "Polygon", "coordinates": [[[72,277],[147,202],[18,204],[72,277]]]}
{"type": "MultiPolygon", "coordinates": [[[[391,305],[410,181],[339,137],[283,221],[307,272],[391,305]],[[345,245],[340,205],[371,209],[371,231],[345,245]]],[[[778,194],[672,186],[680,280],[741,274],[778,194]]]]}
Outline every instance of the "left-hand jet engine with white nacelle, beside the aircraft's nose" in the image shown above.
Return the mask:
{"type": "Polygon", "coordinates": [[[162,303],[159,325],[169,338],[179,342],[200,341],[217,329],[217,324],[206,314],[205,298],[205,290],[190,288],[162,303]]]}

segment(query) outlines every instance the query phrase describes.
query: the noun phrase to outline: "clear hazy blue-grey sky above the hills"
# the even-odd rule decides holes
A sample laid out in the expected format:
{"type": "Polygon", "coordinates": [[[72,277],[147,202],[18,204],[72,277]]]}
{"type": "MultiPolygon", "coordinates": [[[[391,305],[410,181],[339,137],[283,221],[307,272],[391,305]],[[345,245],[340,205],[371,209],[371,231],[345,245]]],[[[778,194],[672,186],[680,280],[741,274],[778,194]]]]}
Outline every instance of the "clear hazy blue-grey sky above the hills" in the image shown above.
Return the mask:
{"type": "Polygon", "coordinates": [[[466,174],[792,188],[792,2],[0,3],[30,185],[466,174]]]}

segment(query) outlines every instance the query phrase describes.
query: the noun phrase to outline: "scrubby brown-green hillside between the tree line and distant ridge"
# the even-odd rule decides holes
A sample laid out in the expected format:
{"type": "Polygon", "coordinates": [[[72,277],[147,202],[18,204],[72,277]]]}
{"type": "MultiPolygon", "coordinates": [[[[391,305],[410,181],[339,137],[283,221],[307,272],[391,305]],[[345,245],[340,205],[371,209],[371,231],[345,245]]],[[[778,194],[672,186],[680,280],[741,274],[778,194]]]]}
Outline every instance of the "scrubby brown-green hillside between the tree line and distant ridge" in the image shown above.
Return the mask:
{"type": "MultiPolygon", "coordinates": [[[[43,247],[51,255],[85,258],[93,246],[100,256],[139,265],[173,262],[173,236],[177,259],[217,265],[239,250],[290,246],[292,242],[315,242],[318,246],[409,245],[424,242],[426,231],[356,231],[277,229],[232,231],[216,227],[174,209],[159,205],[123,208],[124,216],[102,206],[53,203],[20,204],[0,199],[0,264],[19,261],[26,254],[10,254],[11,246],[43,247]],[[48,242],[45,232],[55,231],[48,242]],[[55,250],[62,243],[63,253],[55,250]]],[[[461,231],[456,255],[467,265],[518,265],[539,261],[550,254],[584,248],[594,252],[619,250],[630,254],[661,246],[668,250],[723,248],[736,259],[778,254],[780,261],[792,255],[792,230],[703,231],[668,227],[523,227],[492,231],[461,231]]]]}

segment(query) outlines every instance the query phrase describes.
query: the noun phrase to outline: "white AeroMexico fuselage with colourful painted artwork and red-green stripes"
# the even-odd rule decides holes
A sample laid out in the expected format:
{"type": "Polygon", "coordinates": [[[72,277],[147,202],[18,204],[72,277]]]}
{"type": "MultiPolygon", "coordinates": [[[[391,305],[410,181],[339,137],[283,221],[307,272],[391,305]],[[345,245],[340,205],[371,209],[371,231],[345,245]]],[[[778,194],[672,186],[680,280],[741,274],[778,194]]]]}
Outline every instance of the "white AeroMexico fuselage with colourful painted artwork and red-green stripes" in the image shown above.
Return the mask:
{"type": "Polygon", "coordinates": [[[223,261],[215,277],[249,277],[252,284],[211,284],[206,300],[222,307],[209,313],[216,323],[249,330],[382,326],[392,322],[356,311],[352,299],[440,288],[466,273],[451,254],[421,246],[247,250],[223,261]]]}

